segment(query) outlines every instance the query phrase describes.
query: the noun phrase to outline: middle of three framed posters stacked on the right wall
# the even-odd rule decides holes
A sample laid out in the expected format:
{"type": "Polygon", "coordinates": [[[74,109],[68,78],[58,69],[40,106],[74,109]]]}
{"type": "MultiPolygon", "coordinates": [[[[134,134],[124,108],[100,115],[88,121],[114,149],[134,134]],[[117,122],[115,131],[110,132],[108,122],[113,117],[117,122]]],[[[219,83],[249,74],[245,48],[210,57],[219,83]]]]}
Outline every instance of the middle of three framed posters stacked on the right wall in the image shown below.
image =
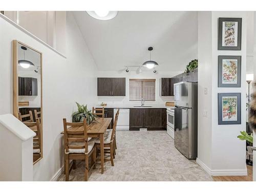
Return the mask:
{"type": "Polygon", "coordinates": [[[218,87],[241,87],[241,56],[218,57],[218,87]]]}

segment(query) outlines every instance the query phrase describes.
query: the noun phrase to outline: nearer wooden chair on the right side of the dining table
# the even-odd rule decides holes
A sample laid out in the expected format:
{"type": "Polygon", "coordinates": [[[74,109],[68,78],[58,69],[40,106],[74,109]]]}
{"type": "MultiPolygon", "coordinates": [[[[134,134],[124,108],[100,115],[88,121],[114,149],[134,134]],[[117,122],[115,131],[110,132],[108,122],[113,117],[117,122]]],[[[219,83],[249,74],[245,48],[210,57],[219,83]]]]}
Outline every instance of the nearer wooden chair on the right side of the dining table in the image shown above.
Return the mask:
{"type": "MultiPolygon", "coordinates": [[[[115,120],[114,120],[114,125],[113,129],[109,132],[106,132],[104,135],[104,154],[110,153],[110,159],[104,159],[104,161],[111,161],[111,165],[114,166],[114,139],[115,139],[115,134],[116,134],[116,124],[118,120],[118,115],[119,115],[119,110],[117,111],[115,115],[115,120]]],[[[98,149],[100,148],[100,140],[99,138],[93,139],[97,148],[97,152],[99,151],[98,149]]]]}

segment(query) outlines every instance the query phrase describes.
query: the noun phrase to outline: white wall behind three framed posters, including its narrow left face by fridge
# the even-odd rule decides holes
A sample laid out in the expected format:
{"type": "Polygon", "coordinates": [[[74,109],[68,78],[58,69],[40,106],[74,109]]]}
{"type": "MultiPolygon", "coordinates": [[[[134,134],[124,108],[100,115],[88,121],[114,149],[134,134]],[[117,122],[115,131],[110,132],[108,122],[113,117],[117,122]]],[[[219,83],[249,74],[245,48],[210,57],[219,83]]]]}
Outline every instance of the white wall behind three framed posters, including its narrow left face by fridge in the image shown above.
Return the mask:
{"type": "MultiPolygon", "coordinates": [[[[204,95],[204,87],[207,87],[211,95],[208,101],[209,107],[203,109],[199,105],[199,155],[198,159],[208,167],[212,175],[245,175],[247,174],[245,164],[245,141],[237,138],[240,131],[245,131],[246,123],[246,12],[199,12],[199,39],[204,39],[206,34],[211,35],[211,42],[201,42],[199,52],[199,100],[205,100],[208,96],[204,95]],[[205,17],[205,18],[203,18],[205,17]],[[219,51],[218,50],[218,18],[219,17],[242,17],[242,50],[241,51],[219,51]],[[201,23],[202,22],[202,23],[201,23]],[[208,24],[207,24],[208,23],[208,24]],[[206,24],[206,25],[205,25],[206,24]],[[209,50],[211,47],[211,50],[209,50]],[[209,58],[205,58],[204,53],[209,58]],[[241,55],[241,88],[218,88],[218,55],[241,55]],[[204,69],[201,69],[200,60],[204,60],[204,69]],[[209,70],[205,70],[209,68],[209,70]],[[206,74],[204,74],[206,72],[206,74]],[[211,78],[211,79],[210,79],[211,78]],[[202,81],[208,81],[203,83],[202,81]],[[211,81],[211,82],[210,82],[211,81]],[[218,125],[218,93],[241,93],[241,124],[218,125]],[[206,110],[209,114],[206,120],[202,114],[206,110]],[[209,111],[208,111],[209,110],[209,111]],[[211,123],[209,123],[211,122],[211,123]],[[211,134],[205,133],[208,130],[211,134]],[[201,147],[200,147],[201,145],[201,147]],[[207,147],[205,147],[207,146],[207,147]],[[205,158],[205,154],[210,156],[205,158]]],[[[208,94],[209,94],[208,93],[208,94]]],[[[207,106],[207,103],[205,103],[207,106]]]]}

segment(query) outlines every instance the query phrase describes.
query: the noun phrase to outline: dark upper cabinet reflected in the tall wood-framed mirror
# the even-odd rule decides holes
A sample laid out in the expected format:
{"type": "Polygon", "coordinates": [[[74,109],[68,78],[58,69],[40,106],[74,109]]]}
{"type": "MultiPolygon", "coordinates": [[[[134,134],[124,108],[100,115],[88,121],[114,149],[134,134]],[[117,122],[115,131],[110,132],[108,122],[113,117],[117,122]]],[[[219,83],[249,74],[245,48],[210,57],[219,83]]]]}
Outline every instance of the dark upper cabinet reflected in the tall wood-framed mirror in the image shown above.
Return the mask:
{"type": "Polygon", "coordinates": [[[37,96],[37,79],[32,77],[18,77],[19,96],[37,96]]]}

